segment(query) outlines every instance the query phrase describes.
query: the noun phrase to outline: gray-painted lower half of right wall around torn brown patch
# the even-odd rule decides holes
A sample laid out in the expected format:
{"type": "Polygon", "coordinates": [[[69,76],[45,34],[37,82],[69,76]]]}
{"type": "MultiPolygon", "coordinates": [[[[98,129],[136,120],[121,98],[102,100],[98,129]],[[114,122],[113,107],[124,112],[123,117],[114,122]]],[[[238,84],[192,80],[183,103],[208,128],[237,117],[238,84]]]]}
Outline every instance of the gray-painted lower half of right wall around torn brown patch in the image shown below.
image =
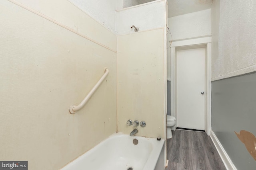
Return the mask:
{"type": "Polygon", "coordinates": [[[212,130],[238,170],[256,170],[256,161],[234,131],[256,135],[256,74],[212,82],[212,130]]]}

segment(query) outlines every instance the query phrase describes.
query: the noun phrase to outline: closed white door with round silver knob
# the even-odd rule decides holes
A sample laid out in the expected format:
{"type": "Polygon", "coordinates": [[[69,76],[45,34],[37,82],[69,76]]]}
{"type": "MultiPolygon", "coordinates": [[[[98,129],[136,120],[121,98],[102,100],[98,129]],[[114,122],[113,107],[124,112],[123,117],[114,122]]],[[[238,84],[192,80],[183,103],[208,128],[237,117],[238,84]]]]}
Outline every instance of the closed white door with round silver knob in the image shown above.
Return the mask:
{"type": "Polygon", "coordinates": [[[205,48],[176,51],[177,127],[205,130],[205,48]]]}

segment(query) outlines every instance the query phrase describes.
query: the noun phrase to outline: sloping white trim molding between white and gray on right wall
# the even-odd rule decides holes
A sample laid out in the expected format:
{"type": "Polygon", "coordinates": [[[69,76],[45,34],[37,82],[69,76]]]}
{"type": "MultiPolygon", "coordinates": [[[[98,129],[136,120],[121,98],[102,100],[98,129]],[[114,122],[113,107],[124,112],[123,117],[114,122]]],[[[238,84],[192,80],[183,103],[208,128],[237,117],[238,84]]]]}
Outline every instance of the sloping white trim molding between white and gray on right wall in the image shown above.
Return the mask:
{"type": "Polygon", "coordinates": [[[225,79],[225,78],[232,78],[232,77],[235,77],[235,76],[241,76],[241,75],[248,74],[248,73],[255,72],[255,71],[256,71],[256,64],[248,66],[246,68],[242,68],[240,70],[236,70],[234,72],[230,72],[230,73],[227,73],[227,74],[223,74],[221,76],[214,77],[214,78],[212,78],[212,82],[216,81],[216,80],[225,79]]]}

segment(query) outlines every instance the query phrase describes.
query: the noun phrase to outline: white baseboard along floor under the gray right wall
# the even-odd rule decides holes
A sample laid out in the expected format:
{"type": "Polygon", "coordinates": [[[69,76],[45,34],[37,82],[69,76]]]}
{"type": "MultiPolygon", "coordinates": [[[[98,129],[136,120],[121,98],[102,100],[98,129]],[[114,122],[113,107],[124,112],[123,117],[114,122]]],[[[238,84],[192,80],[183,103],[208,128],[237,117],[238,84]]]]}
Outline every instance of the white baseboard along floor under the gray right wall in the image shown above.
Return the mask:
{"type": "Polygon", "coordinates": [[[224,150],[220,141],[218,140],[218,138],[216,137],[216,135],[214,134],[214,132],[212,130],[211,130],[210,137],[211,137],[212,142],[214,143],[218,153],[220,154],[220,158],[222,159],[224,165],[226,166],[226,169],[227,170],[237,170],[236,166],[234,166],[234,164],[231,161],[231,159],[229,158],[227,152],[224,150]]]}

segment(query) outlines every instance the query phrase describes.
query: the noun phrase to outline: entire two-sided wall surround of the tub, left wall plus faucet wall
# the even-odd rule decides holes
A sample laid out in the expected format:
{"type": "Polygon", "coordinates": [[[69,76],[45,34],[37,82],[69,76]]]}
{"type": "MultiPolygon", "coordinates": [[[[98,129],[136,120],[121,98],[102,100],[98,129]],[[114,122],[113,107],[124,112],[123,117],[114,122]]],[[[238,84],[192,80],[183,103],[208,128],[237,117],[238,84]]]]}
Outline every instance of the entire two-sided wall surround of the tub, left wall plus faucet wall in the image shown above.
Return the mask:
{"type": "MultiPolygon", "coordinates": [[[[134,18],[118,11],[128,23],[116,16],[118,36],[112,22],[102,23],[112,21],[112,14],[94,19],[87,9],[96,8],[96,2],[86,8],[75,2],[0,2],[1,160],[28,160],[33,170],[59,169],[117,130],[130,133],[123,126],[128,118],[146,121],[137,135],[165,138],[166,0],[137,6],[134,18]],[[134,33],[131,25],[140,31],[134,33]],[[80,111],[70,114],[69,107],[84,99],[104,67],[110,70],[104,82],[80,111]],[[117,122],[123,123],[118,129],[117,122]]],[[[110,4],[93,14],[108,13],[110,4]]]]}

